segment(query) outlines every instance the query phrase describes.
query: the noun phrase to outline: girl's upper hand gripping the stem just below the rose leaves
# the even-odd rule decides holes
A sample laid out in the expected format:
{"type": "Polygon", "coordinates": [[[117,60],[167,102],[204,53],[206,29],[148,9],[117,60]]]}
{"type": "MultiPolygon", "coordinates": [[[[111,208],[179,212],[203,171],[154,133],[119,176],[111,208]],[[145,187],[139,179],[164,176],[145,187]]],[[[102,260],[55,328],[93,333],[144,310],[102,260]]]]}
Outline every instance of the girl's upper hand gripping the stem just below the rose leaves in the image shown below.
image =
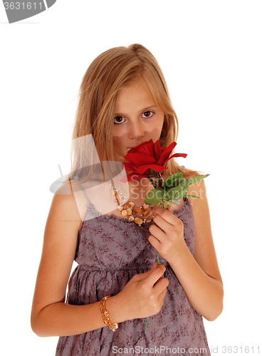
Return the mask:
{"type": "Polygon", "coordinates": [[[169,264],[184,247],[184,224],[169,209],[154,208],[154,223],[149,228],[148,241],[169,264]]]}

